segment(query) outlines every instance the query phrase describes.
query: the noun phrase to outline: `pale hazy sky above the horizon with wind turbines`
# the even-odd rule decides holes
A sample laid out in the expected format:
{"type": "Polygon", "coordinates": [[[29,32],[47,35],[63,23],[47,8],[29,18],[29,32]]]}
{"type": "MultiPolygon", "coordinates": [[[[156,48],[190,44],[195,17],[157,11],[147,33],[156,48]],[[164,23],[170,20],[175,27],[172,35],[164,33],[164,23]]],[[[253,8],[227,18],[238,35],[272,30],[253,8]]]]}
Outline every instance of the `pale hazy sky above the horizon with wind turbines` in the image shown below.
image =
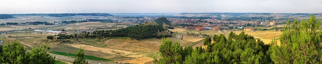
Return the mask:
{"type": "Polygon", "coordinates": [[[322,13],[322,0],[0,0],[0,13],[322,13]]]}

